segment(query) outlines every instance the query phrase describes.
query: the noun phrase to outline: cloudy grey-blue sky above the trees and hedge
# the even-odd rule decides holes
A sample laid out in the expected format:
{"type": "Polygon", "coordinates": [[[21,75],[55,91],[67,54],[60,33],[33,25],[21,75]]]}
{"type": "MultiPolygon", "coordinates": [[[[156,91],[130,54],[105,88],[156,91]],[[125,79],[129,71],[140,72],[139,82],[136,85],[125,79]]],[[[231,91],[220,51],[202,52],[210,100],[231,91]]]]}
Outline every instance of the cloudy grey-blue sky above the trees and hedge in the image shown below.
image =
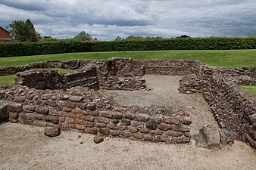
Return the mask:
{"type": "Polygon", "coordinates": [[[0,0],[0,26],[30,19],[42,36],[256,36],[256,0],[0,0]]]}

